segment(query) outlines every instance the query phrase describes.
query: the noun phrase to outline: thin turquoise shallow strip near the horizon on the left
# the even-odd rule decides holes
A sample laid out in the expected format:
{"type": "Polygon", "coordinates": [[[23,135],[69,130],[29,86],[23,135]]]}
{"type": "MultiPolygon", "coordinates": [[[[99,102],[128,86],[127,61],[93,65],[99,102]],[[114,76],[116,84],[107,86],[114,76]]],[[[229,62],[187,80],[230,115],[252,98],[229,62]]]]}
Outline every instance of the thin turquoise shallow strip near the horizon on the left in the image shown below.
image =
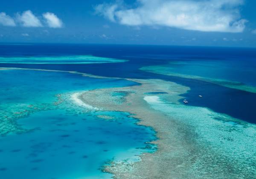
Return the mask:
{"type": "Polygon", "coordinates": [[[104,64],[125,61],[92,55],[0,57],[0,64],[104,64]]]}

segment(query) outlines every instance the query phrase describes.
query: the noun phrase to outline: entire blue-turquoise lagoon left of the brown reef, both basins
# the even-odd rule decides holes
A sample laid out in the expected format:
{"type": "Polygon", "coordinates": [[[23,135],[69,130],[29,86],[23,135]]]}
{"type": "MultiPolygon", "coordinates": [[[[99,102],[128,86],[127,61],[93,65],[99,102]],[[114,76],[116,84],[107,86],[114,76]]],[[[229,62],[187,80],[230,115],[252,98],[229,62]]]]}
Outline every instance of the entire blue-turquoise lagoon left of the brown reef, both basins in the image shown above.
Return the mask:
{"type": "Polygon", "coordinates": [[[109,178],[102,172],[106,162],[135,161],[155,150],[146,144],[154,131],[128,113],[96,112],[73,97],[134,82],[21,69],[0,76],[1,178],[109,178]]]}

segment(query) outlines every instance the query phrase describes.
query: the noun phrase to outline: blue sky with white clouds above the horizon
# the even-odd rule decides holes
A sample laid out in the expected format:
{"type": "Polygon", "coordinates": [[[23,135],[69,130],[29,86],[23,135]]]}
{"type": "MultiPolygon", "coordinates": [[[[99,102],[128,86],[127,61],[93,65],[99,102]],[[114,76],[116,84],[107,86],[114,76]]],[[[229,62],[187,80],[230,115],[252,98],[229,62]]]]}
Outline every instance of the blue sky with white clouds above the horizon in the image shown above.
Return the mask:
{"type": "Polygon", "coordinates": [[[256,0],[1,0],[1,43],[256,47],[256,0]]]}

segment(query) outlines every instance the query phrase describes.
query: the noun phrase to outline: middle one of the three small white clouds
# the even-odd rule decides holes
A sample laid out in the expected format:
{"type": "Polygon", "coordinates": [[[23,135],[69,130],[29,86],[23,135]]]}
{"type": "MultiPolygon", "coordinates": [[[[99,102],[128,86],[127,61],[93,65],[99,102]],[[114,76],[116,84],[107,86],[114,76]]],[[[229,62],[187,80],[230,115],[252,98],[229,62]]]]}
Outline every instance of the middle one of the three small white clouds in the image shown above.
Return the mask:
{"type": "Polygon", "coordinates": [[[21,15],[17,14],[17,20],[24,27],[42,27],[41,21],[30,10],[24,11],[21,15]]]}

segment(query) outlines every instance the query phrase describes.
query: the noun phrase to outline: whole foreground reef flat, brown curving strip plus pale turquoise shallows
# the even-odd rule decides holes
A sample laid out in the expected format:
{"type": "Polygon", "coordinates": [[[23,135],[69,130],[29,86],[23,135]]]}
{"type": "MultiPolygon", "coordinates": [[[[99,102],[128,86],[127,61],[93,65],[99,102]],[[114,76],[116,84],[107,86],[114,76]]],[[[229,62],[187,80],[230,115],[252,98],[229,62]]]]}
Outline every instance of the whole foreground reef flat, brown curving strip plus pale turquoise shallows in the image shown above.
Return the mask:
{"type": "Polygon", "coordinates": [[[139,118],[139,125],[157,132],[158,139],[151,142],[157,151],[144,153],[140,162],[114,160],[104,171],[118,179],[256,177],[254,124],[180,104],[188,87],[157,79],[128,80],[141,85],[90,90],[78,98],[99,110],[139,118]]]}

